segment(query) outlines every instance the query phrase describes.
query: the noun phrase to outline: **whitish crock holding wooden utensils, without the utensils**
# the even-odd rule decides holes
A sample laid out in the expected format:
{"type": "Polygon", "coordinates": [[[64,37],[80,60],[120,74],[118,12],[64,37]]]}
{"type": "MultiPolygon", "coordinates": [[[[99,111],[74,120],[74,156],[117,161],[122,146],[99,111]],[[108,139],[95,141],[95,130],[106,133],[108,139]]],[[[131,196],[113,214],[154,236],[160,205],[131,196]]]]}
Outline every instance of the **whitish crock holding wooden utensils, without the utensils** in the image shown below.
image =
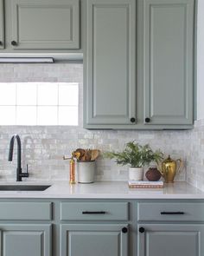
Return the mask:
{"type": "Polygon", "coordinates": [[[78,182],[92,183],[95,176],[95,161],[77,161],[78,182]]]}

